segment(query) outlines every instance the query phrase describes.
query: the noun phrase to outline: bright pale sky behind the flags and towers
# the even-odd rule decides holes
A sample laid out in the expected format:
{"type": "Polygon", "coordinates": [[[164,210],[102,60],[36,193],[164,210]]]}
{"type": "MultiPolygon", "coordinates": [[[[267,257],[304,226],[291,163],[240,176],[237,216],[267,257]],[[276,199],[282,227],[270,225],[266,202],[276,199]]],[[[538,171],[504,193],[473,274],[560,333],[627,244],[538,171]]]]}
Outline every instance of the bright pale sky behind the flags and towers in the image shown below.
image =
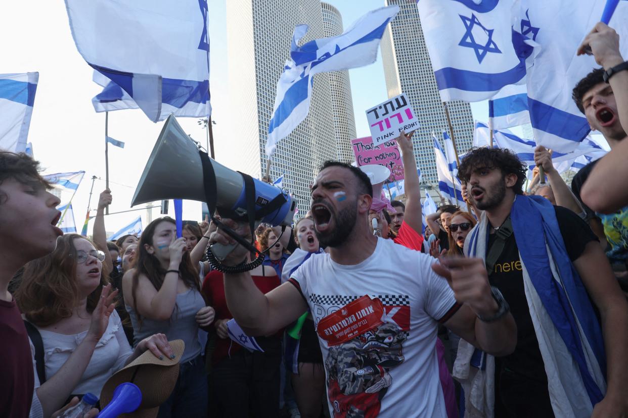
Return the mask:
{"type": "MultiPolygon", "coordinates": [[[[229,91],[226,86],[229,75],[225,1],[208,0],[210,90],[212,119],[216,122],[215,155],[221,164],[229,167],[237,158],[237,150],[229,148],[229,136],[233,135],[237,121],[230,120],[227,109],[229,91]]],[[[383,0],[362,0],[359,3],[328,0],[328,3],[337,7],[342,14],[345,29],[362,14],[384,5],[383,0]]],[[[3,13],[0,14],[0,36],[4,39],[0,73],[40,73],[29,133],[35,159],[40,161],[45,174],[85,171],[84,180],[72,197],[75,223],[80,231],[88,207],[92,176],[97,177],[90,204],[92,209],[97,205],[99,193],[105,189],[105,115],[95,113],[91,103],[91,98],[101,89],[92,82],[92,69],[77,51],[63,1],[5,2],[3,13]]],[[[349,70],[349,76],[357,137],[369,136],[364,110],[387,99],[381,58],[378,57],[372,65],[349,70]]],[[[487,120],[486,102],[472,103],[472,112],[475,119],[487,120]]],[[[197,118],[178,119],[192,138],[205,144],[206,132],[197,121],[197,118]]],[[[126,143],[124,149],[109,146],[109,187],[113,195],[110,212],[131,209],[131,198],[162,125],[163,122],[151,122],[141,110],[109,113],[109,136],[126,143]]],[[[62,203],[67,203],[70,196],[64,192],[62,203]]],[[[152,211],[153,219],[160,216],[158,207],[149,210],[152,211]]],[[[138,215],[141,215],[146,227],[147,212],[141,210],[107,216],[106,229],[117,231],[138,215]]],[[[170,216],[174,216],[172,204],[170,216]]],[[[200,217],[200,202],[183,202],[183,219],[200,221],[200,217]]],[[[89,224],[89,233],[92,225],[93,221],[89,224]]]]}

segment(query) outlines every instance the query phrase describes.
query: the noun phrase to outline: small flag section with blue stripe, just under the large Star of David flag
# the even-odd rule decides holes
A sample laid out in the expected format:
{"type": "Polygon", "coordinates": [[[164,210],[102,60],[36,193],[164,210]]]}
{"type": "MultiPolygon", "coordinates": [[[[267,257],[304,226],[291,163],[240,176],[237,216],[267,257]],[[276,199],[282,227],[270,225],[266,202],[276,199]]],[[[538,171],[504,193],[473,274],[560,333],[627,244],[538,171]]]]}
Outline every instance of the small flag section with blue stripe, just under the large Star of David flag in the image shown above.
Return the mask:
{"type": "Polygon", "coordinates": [[[530,123],[528,89],[509,85],[489,100],[489,123],[493,129],[506,129],[530,123]]]}

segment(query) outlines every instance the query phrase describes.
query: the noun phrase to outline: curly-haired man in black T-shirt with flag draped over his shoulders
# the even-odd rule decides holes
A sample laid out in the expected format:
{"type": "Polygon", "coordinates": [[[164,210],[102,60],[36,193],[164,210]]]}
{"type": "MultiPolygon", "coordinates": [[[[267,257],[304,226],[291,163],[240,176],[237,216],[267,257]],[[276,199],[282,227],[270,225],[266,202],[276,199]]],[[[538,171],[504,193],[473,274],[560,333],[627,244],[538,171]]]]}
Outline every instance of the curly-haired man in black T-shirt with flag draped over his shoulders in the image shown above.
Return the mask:
{"type": "Polygon", "coordinates": [[[484,211],[465,254],[484,259],[517,323],[514,352],[485,368],[494,365],[494,415],[627,413],[628,304],[595,234],[572,211],[524,196],[526,167],[509,150],[471,150],[458,176],[484,211]]]}

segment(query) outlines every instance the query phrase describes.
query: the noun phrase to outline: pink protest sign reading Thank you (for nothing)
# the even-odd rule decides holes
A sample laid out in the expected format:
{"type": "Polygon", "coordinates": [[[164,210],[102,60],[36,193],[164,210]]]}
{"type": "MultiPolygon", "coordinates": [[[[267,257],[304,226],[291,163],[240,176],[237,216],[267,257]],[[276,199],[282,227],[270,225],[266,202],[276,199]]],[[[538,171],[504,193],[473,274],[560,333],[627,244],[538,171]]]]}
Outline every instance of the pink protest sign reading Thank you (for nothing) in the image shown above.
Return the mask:
{"type": "Polygon", "coordinates": [[[403,180],[403,162],[396,140],[384,141],[374,145],[371,137],[351,140],[358,167],[368,164],[384,165],[391,170],[389,181],[403,180]]]}

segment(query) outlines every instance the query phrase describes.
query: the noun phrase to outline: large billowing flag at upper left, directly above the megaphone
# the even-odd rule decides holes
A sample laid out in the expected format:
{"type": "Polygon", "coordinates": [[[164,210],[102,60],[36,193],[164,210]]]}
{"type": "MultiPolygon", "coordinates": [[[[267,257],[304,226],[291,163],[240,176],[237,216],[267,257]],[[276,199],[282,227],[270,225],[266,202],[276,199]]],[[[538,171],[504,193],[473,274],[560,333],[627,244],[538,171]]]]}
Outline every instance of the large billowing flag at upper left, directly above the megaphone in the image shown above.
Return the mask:
{"type": "Polygon", "coordinates": [[[139,107],[153,122],[207,117],[207,0],[66,0],[78,52],[109,82],[96,112],[139,107]]]}

